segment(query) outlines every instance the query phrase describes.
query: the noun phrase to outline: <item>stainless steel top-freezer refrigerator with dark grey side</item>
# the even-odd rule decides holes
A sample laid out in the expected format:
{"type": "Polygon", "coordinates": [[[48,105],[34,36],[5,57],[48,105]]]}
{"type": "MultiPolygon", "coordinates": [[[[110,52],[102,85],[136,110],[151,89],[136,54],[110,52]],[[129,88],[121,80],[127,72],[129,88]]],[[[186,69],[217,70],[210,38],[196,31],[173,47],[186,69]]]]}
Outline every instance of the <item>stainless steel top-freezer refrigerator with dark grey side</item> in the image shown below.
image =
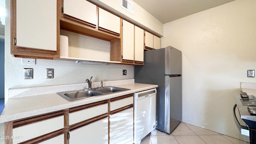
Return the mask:
{"type": "Polygon", "coordinates": [[[170,134],[181,122],[181,51],[168,46],[144,51],[144,65],[134,66],[137,83],[157,84],[156,129],[170,134]]]}

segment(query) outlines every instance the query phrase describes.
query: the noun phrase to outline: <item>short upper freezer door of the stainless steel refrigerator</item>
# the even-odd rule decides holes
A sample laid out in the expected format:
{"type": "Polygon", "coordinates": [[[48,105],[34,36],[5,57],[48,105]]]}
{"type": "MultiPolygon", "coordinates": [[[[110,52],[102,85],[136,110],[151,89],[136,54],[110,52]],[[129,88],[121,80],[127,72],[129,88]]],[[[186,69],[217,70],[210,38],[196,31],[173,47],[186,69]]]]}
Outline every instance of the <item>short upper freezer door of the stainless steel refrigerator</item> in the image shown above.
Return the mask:
{"type": "Polygon", "coordinates": [[[165,74],[181,74],[181,51],[168,46],[165,48],[165,74]]]}

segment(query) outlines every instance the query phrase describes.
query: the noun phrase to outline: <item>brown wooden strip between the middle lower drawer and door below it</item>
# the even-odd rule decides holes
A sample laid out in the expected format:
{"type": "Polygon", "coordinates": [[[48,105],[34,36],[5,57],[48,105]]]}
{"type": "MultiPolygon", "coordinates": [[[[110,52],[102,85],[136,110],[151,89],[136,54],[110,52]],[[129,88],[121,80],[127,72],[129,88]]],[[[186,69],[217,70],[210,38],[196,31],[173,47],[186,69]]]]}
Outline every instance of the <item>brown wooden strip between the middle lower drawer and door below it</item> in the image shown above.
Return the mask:
{"type": "Polygon", "coordinates": [[[76,129],[78,129],[78,128],[81,128],[81,127],[83,127],[83,126],[86,126],[86,125],[88,125],[88,124],[91,124],[91,123],[93,123],[93,122],[96,122],[96,121],[98,121],[98,120],[102,120],[102,119],[104,119],[104,118],[108,118],[108,113],[102,114],[102,115],[100,115],[100,116],[96,116],[96,117],[94,117],[94,118],[90,118],[90,119],[88,119],[88,120],[84,120],[84,121],[79,122],[79,123],[76,123],[76,124],[72,124],[72,125],[69,127],[69,130],[70,130],[70,132],[71,132],[71,131],[73,131],[73,130],[76,130],[76,129]]]}

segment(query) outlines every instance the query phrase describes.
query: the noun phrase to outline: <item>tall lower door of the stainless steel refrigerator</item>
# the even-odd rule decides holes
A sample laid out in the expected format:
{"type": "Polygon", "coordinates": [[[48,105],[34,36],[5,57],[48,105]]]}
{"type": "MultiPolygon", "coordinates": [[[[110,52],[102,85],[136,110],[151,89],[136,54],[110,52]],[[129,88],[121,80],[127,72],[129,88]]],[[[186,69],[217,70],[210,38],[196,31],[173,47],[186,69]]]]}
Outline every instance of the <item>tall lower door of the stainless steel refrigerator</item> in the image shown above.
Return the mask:
{"type": "Polygon", "coordinates": [[[165,76],[165,92],[164,131],[170,134],[181,122],[181,76],[165,76]]]}

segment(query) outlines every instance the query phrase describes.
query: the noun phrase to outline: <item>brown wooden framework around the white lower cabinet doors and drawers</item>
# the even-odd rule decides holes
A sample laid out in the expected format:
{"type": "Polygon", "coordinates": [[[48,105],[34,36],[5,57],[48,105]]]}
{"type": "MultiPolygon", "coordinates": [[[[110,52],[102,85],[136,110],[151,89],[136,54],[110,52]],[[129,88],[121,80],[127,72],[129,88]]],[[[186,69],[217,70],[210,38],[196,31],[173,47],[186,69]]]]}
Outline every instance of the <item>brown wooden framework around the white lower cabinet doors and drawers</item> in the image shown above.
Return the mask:
{"type": "MultiPolygon", "coordinates": [[[[61,111],[57,111],[57,112],[51,112],[51,113],[47,113],[47,114],[41,114],[38,116],[32,116],[32,117],[28,117],[28,118],[22,118],[19,120],[5,122],[5,136],[9,136],[11,138],[11,136],[13,136],[14,128],[26,126],[28,124],[41,122],[41,121],[48,120],[51,118],[56,118],[59,116],[64,116],[64,126],[62,129],[56,130],[54,132],[50,132],[48,134],[44,134],[42,136],[38,136],[36,138],[32,138],[30,140],[26,140],[24,142],[21,142],[20,144],[34,144],[34,143],[38,143],[38,142],[44,142],[46,140],[49,140],[49,139],[59,136],[61,134],[64,134],[64,144],[69,144],[69,132],[70,131],[76,130],[76,129],[86,126],[88,124],[92,124],[93,122],[96,122],[98,120],[108,118],[108,142],[110,142],[110,115],[113,115],[118,112],[122,112],[124,110],[134,107],[134,102],[132,102],[132,104],[128,104],[128,105],[122,106],[121,108],[117,108],[115,110],[110,111],[110,102],[115,102],[115,101],[122,100],[125,98],[130,98],[130,97],[134,97],[134,94],[133,93],[127,94],[124,96],[118,96],[116,98],[102,100],[100,102],[94,102],[91,104],[77,106],[74,108],[69,108],[69,109],[65,109],[65,110],[61,110],[61,111]],[[85,110],[85,109],[92,108],[95,106],[100,106],[102,104],[108,104],[108,110],[106,113],[101,114],[99,116],[89,118],[87,120],[83,120],[83,121],[75,123],[75,124],[69,125],[69,113],[78,112],[80,110],[85,110]]],[[[5,144],[12,144],[12,139],[5,139],[5,144]]]]}

